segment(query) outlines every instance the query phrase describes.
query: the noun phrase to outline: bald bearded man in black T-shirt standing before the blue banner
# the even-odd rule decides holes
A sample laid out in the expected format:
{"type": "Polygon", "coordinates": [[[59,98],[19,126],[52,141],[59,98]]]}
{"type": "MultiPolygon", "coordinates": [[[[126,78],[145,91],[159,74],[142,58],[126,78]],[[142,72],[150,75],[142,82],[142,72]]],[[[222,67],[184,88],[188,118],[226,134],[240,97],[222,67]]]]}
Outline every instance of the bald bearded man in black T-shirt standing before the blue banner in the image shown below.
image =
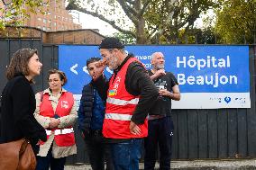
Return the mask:
{"type": "Polygon", "coordinates": [[[149,135],[145,139],[144,169],[153,170],[158,147],[160,148],[160,169],[170,169],[173,122],[171,100],[179,101],[180,93],[176,77],[164,69],[165,58],[161,52],[151,55],[149,74],[159,89],[159,98],[149,112],[149,135]]]}

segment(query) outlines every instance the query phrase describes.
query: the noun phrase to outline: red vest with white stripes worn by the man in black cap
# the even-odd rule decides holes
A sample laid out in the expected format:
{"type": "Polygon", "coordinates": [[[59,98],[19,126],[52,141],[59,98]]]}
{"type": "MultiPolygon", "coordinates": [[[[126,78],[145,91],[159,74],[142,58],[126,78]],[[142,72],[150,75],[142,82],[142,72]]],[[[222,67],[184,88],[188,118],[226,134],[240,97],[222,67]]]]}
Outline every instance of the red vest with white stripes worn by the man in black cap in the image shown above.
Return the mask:
{"type": "Polygon", "coordinates": [[[143,124],[138,125],[141,129],[140,135],[133,135],[129,129],[131,118],[140,96],[134,96],[126,91],[125,76],[127,68],[135,60],[140,62],[137,58],[129,58],[115,78],[113,75],[109,81],[103,124],[103,135],[105,138],[133,139],[148,136],[147,119],[143,124]]]}

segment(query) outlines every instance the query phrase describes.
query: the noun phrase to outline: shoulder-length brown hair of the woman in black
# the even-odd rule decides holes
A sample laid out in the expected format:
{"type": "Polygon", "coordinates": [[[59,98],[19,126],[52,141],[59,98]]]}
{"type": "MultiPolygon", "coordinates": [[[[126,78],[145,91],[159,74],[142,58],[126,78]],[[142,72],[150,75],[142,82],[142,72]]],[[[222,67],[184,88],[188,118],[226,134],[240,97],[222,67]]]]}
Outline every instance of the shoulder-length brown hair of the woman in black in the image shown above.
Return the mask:
{"type": "Polygon", "coordinates": [[[6,77],[8,80],[14,78],[15,75],[23,74],[23,76],[28,76],[30,74],[28,63],[30,58],[34,54],[37,54],[37,49],[19,49],[17,50],[11,62],[6,70],[6,77]]]}

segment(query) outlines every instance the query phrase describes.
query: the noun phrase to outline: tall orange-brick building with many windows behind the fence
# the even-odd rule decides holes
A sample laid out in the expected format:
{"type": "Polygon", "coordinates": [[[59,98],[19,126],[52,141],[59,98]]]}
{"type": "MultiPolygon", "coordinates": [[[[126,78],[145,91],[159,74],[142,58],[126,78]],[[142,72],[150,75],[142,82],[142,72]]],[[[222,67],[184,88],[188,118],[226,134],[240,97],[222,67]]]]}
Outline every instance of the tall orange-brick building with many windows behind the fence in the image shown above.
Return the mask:
{"type": "MultiPolygon", "coordinates": [[[[34,9],[35,13],[30,12],[30,8],[25,4],[21,7],[24,8],[28,13],[27,18],[23,15],[18,15],[17,17],[6,18],[6,13],[8,11],[8,5],[3,4],[0,0],[0,8],[5,9],[0,10],[0,17],[5,21],[22,21],[19,25],[29,26],[39,28],[43,31],[67,31],[67,30],[78,30],[82,29],[82,25],[73,20],[72,14],[69,13],[65,8],[65,0],[43,0],[42,5],[38,9],[34,9]]],[[[76,20],[77,21],[77,20],[76,20]]]]}

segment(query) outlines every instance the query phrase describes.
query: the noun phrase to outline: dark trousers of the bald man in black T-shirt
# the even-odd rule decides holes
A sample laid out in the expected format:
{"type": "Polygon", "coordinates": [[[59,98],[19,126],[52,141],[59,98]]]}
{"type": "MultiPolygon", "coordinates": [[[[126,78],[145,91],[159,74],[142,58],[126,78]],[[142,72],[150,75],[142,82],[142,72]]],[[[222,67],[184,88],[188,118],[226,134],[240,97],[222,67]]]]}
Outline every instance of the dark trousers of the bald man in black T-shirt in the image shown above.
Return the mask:
{"type": "Polygon", "coordinates": [[[170,169],[173,122],[171,117],[149,121],[149,135],[144,140],[144,169],[153,170],[160,148],[160,170],[170,169]]]}

